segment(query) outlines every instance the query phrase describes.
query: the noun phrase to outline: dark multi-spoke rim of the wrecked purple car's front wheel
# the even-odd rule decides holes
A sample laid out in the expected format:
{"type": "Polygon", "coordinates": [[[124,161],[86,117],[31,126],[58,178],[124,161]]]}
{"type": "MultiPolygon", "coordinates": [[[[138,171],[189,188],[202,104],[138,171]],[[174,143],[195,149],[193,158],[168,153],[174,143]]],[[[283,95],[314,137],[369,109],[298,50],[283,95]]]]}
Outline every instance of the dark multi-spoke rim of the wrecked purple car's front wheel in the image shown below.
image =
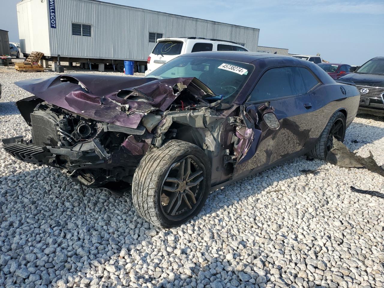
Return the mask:
{"type": "Polygon", "coordinates": [[[161,192],[161,204],[169,216],[192,213],[200,197],[199,184],[203,170],[189,156],[172,164],[161,192]]]}

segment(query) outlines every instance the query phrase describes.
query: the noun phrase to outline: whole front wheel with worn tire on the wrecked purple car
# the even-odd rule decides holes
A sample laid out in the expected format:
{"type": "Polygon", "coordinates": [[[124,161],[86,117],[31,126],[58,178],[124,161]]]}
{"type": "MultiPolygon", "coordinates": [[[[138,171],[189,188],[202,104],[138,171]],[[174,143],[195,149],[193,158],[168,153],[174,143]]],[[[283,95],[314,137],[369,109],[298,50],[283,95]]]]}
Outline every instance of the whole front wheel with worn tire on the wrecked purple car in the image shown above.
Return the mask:
{"type": "Polygon", "coordinates": [[[132,182],[137,213],[159,228],[178,226],[202,209],[211,184],[211,166],[198,146],[171,140],[148,152],[132,182]]]}

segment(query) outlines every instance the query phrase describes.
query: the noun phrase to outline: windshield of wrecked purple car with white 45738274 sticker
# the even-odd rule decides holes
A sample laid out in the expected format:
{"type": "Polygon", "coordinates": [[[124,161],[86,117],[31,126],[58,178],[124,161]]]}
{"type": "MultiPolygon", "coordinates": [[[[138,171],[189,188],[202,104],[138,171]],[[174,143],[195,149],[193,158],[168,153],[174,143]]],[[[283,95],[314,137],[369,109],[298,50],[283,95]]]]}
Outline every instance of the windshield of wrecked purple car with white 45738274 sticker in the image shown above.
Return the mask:
{"type": "Polygon", "coordinates": [[[243,87],[253,66],[247,63],[202,58],[202,57],[177,57],[160,66],[148,78],[186,78],[195,77],[210,88],[217,100],[223,103],[232,103],[236,95],[243,87]]]}

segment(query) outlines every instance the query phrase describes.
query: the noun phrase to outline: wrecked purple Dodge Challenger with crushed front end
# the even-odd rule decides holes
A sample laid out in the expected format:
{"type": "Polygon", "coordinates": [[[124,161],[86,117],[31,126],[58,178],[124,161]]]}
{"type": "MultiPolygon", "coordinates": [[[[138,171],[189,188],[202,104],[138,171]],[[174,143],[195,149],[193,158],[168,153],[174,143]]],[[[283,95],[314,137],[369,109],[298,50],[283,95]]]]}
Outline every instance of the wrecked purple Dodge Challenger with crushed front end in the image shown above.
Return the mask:
{"type": "Polygon", "coordinates": [[[12,156],[88,187],[132,189],[157,227],[196,215],[211,190],[343,141],[360,95],[318,65],[252,52],[179,56],[145,78],[63,74],[16,83],[32,139],[12,156]],[[339,81],[339,80],[338,80],[339,81]]]}

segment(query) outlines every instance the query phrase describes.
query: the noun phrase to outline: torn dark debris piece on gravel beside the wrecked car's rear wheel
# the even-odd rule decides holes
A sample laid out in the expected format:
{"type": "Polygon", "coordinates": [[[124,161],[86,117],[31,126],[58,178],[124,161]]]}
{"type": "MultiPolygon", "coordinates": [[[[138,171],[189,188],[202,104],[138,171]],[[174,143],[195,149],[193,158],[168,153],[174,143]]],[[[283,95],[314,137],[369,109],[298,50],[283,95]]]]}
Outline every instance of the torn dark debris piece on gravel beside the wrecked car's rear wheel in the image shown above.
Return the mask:
{"type": "Polygon", "coordinates": [[[333,138],[333,148],[328,152],[326,161],[330,164],[346,168],[365,168],[384,177],[384,170],[377,165],[371,150],[368,157],[361,157],[333,138]]]}

